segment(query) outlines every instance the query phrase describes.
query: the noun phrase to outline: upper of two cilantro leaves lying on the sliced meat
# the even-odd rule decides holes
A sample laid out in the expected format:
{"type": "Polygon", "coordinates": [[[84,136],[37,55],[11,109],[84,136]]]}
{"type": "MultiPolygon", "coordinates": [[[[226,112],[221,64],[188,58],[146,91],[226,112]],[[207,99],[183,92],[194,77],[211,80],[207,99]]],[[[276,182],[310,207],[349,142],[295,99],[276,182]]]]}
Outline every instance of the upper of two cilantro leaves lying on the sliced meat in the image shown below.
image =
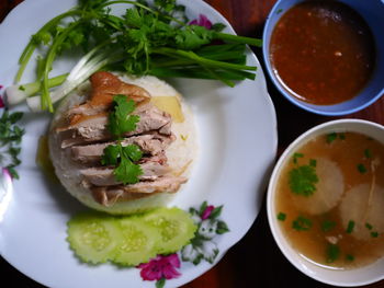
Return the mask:
{"type": "Polygon", "coordinates": [[[113,97],[113,111],[109,116],[108,128],[115,138],[121,138],[125,133],[136,129],[139,116],[131,115],[135,110],[135,102],[125,95],[113,97]]]}

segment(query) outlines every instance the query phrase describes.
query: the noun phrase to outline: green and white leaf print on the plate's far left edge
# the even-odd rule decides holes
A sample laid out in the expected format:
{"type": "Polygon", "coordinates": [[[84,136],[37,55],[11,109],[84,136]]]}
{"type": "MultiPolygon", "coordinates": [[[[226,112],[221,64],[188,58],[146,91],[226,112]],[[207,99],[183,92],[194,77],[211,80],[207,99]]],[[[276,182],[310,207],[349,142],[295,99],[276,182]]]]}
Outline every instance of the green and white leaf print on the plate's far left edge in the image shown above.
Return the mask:
{"type": "Polygon", "coordinates": [[[21,112],[10,113],[4,110],[0,118],[0,165],[7,168],[14,178],[19,178],[15,166],[21,163],[20,143],[24,135],[24,129],[20,128],[16,123],[22,117],[21,112]]]}

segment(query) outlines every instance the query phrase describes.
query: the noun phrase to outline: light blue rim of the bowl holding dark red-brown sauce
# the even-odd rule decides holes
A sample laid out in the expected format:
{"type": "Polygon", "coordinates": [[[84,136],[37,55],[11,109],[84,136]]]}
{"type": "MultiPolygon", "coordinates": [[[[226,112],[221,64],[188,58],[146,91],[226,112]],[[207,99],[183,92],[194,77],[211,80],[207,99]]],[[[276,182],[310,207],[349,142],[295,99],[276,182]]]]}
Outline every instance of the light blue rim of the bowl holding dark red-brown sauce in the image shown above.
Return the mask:
{"type": "MultiPolygon", "coordinates": [[[[267,21],[266,21],[266,25],[263,28],[263,34],[262,34],[262,55],[263,55],[263,60],[264,60],[264,65],[267,67],[267,72],[271,79],[271,81],[273,82],[274,87],[279,90],[279,92],[287,100],[290,101],[292,104],[307,111],[310,113],[315,113],[318,115],[325,115],[325,116],[342,116],[342,115],[348,115],[348,114],[352,114],[355,112],[359,112],[368,106],[370,106],[371,104],[373,104],[374,102],[376,102],[383,94],[384,94],[384,87],[382,88],[382,90],[376,93],[376,95],[374,97],[372,97],[371,100],[363,102],[361,105],[358,105],[353,108],[348,108],[348,110],[339,110],[339,111],[323,111],[323,110],[318,110],[315,108],[315,106],[320,107],[327,107],[327,106],[334,106],[334,105],[315,105],[315,104],[310,104],[310,103],[306,103],[306,102],[302,102],[297,99],[295,99],[294,95],[292,95],[290,92],[287,92],[284,88],[283,84],[281,83],[281,81],[276,78],[276,76],[273,72],[273,68],[271,66],[270,59],[269,59],[269,43],[267,45],[267,37],[270,37],[273,28],[271,30],[271,33],[267,33],[268,27],[271,25],[271,19],[272,16],[274,16],[275,14],[279,14],[279,16],[281,18],[283,15],[283,13],[285,13],[287,10],[290,10],[292,7],[294,7],[296,3],[294,3],[293,5],[291,5],[286,11],[281,12],[279,11],[279,7],[281,4],[281,2],[284,0],[278,0],[275,2],[275,4],[273,5],[272,10],[270,11],[270,13],[268,14],[267,21]]],[[[286,1],[286,0],[285,0],[286,1]]],[[[304,1],[304,0],[303,0],[304,1]]],[[[384,3],[384,0],[382,0],[382,2],[384,3]]],[[[374,71],[373,71],[374,73],[374,71]]],[[[337,105],[340,105],[342,103],[339,103],[337,105]]]]}

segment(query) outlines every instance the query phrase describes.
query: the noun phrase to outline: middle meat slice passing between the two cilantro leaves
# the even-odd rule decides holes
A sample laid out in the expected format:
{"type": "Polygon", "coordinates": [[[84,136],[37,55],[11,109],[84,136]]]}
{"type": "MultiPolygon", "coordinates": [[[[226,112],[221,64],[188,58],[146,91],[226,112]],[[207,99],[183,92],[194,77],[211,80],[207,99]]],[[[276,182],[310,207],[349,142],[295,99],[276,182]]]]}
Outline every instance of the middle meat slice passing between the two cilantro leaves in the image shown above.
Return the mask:
{"type": "MultiPolygon", "coordinates": [[[[173,135],[163,136],[158,133],[153,133],[125,138],[121,143],[123,147],[137,145],[144,154],[156,155],[166,150],[173,140],[173,135]]],[[[80,163],[98,163],[101,160],[104,149],[110,145],[116,145],[116,141],[72,146],[72,159],[80,163]]]]}

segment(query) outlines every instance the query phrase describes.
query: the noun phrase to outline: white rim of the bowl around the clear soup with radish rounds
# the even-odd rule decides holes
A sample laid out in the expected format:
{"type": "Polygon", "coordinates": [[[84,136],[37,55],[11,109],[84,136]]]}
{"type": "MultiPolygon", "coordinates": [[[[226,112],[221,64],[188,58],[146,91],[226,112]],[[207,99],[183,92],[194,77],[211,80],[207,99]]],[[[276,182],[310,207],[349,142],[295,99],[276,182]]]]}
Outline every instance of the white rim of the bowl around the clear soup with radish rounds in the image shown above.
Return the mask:
{"type": "MultiPolygon", "coordinates": [[[[274,240],[276,241],[280,250],[285,257],[302,273],[307,276],[335,286],[360,286],[371,283],[375,283],[384,279],[384,257],[377,262],[354,269],[332,269],[329,267],[320,266],[312,262],[310,260],[302,256],[296,250],[294,250],[289,240],[284,237],[281,230],[279,220],[276,219],[278,210],[275,208],[275,195],[276,184],[279,175],[284,168],[286,161],[291,160],[292,154],[297,151],[306,141],[315,138],[319,135],[327,135],[329,133],[343,133],[354,131],[366,135],[384,143],[384,126],[361,120],[361,119],[340,119],[332,120],[321,125],[318,125],[308,131],[301,135],[295,141],[293,141],[284,153],[280,157],[278,163],[274,166],[270,184],[268,187],[267,210],[268,220],[274,240]]],[[[383,210],[384,216],[384,210],[383,210]]]]}

